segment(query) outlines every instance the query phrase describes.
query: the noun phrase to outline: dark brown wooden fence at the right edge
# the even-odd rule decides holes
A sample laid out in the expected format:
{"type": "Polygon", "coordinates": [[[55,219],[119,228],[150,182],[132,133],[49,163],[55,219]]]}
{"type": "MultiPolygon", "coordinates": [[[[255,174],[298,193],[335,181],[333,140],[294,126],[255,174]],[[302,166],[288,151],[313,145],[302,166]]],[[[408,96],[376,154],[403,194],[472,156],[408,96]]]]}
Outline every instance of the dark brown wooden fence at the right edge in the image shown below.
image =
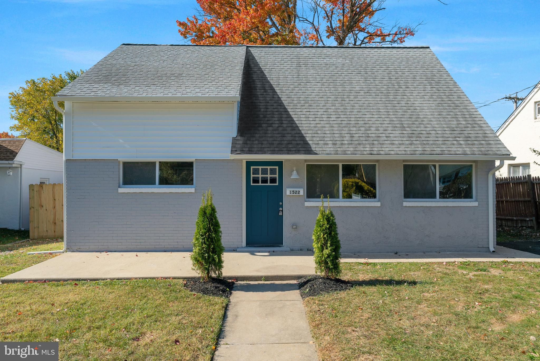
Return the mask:
{"type": "Polygon", "coordinates": [[[538,227],[540,177],[495,178],[497,225],[538,227]]]}

